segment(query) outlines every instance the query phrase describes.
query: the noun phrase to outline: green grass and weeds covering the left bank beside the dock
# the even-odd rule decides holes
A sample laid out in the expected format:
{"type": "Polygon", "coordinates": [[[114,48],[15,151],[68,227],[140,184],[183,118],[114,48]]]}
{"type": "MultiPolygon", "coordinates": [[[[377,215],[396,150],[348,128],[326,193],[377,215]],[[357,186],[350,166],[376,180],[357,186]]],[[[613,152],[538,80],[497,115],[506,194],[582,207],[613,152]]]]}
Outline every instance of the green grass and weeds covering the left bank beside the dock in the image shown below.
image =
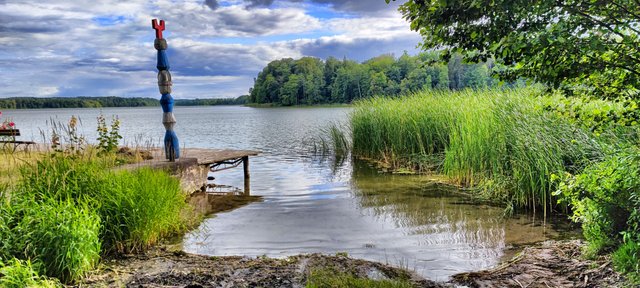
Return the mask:
{"type": "MultiPolygon", "coordinates": [[[[72,118],[65,131],[75,133],[73,125],[72,118]]],[[[103,127],[110,139],[100,142],[117,143],[118,125],[110,127],[103,127]]],[[[67,136],[70,143],[3,170],[12,181],[0,185],[2,287],[76,283],[101,259],[145,251],[199,219],[176,178],[149,168],[114,170],[121,163],[115,149],[67,136]]]]}

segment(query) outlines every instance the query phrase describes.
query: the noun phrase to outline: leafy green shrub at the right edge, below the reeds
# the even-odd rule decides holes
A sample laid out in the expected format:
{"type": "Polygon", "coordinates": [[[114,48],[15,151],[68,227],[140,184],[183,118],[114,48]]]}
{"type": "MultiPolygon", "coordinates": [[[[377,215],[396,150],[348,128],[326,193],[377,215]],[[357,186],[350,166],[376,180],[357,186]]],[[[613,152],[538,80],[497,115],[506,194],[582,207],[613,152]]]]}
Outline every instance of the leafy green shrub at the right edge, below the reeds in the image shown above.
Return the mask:
{"type": "Polygon", "coordinates": [[[616,248],[622,232],[640,235],[640,154],[630,148],[608,156],[576,176],[567,175],[557,194],[581,222],[589,252],[616,248]]]}

